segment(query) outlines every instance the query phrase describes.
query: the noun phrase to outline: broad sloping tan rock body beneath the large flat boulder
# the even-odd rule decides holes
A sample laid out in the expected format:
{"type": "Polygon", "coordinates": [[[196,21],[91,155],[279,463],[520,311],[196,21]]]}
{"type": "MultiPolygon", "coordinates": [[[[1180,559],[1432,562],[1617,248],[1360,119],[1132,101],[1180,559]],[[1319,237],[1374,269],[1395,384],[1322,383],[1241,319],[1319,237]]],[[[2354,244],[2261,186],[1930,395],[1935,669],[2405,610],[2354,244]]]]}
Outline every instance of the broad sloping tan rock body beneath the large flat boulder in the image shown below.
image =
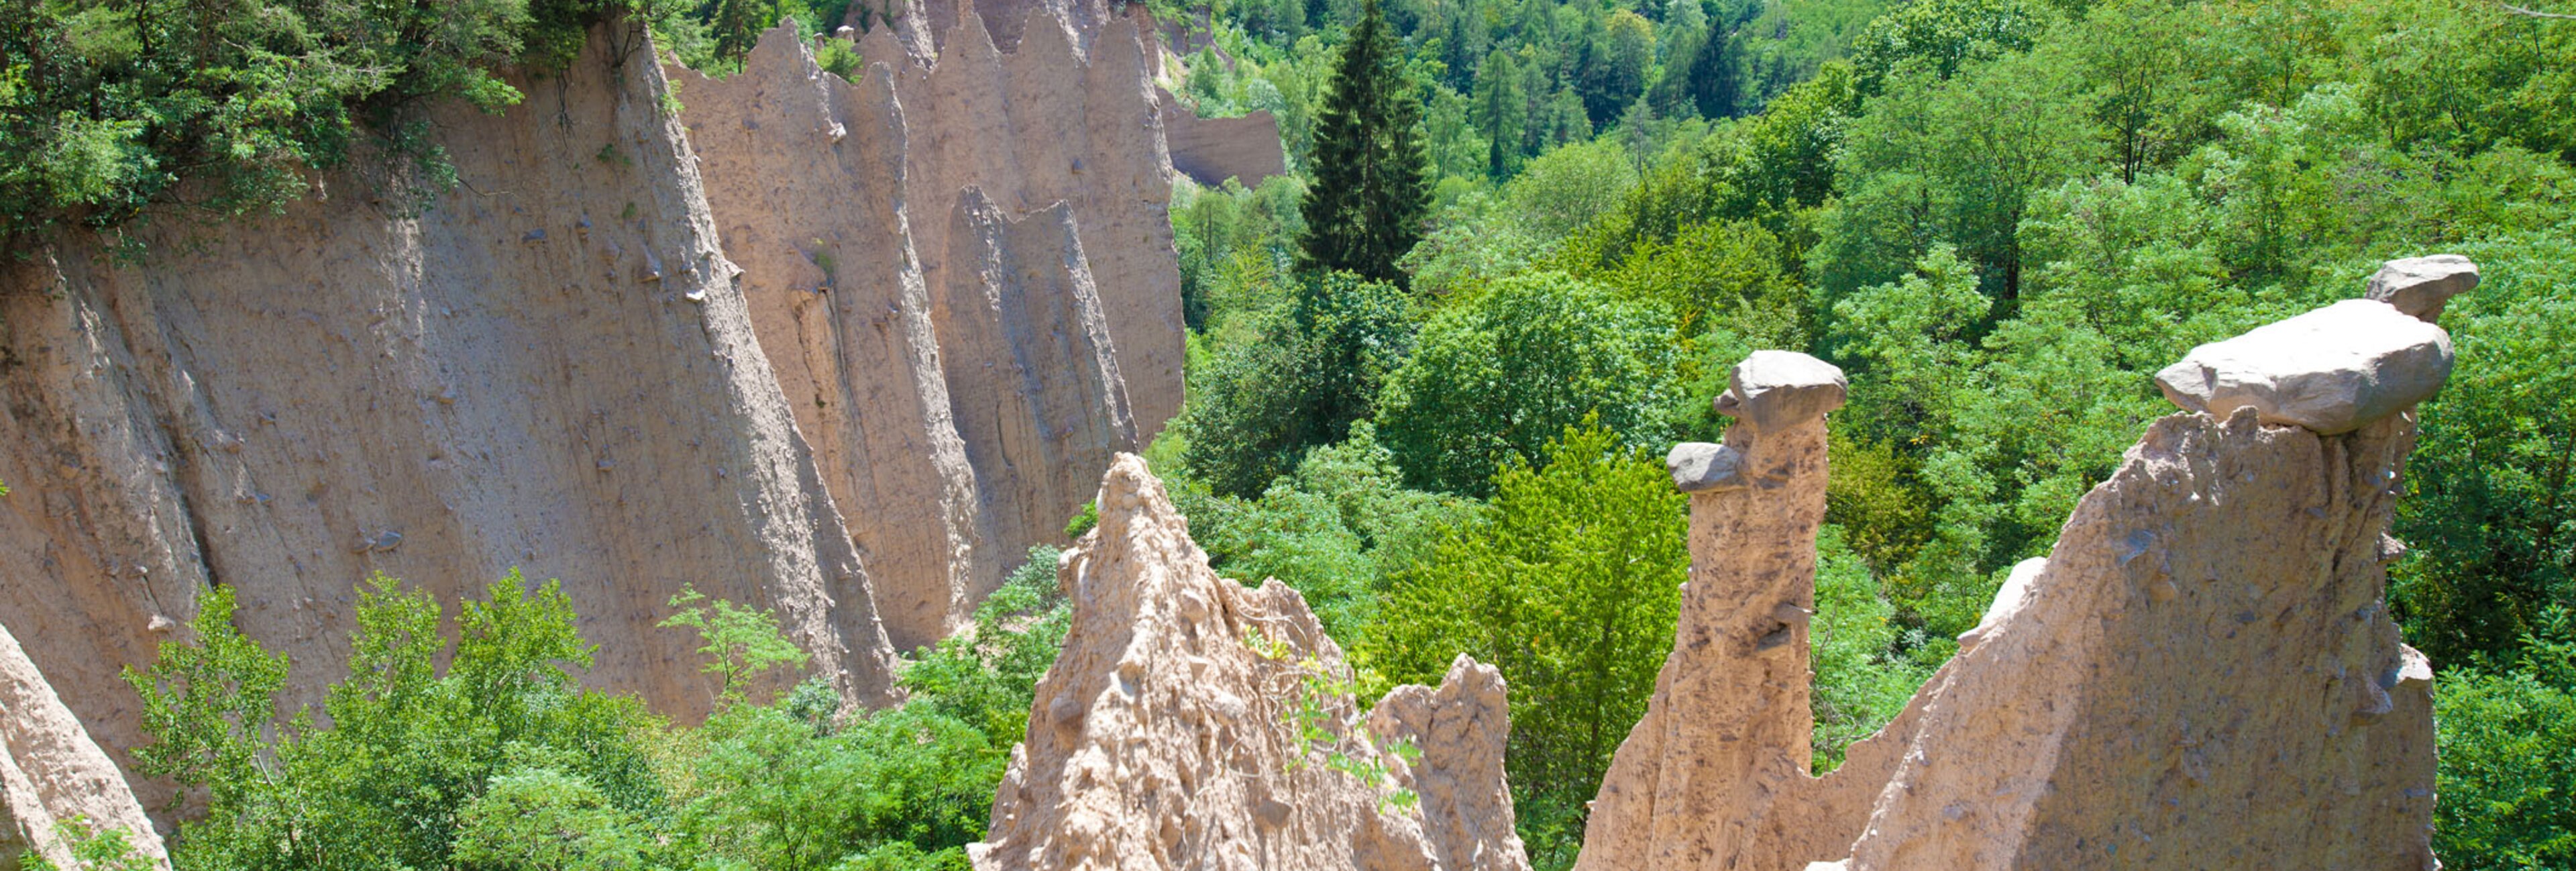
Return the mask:
{"type": "Polygon", "coordinates": [[[2385,613],[2411,415],[2154,423],[1922,696],[1850,868],[2432,868],[2385,613]]]}

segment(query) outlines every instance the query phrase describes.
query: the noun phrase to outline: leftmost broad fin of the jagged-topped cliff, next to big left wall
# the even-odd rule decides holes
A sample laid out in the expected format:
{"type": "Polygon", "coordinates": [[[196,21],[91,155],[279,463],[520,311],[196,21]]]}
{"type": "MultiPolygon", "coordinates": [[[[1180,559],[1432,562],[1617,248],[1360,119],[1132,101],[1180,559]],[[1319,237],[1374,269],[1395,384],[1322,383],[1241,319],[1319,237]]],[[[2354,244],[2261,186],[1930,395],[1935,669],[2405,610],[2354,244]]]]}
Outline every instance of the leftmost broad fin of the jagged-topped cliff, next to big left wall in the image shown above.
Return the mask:
{"type": "MultiPolygon", "coordinates": [[[[886,636],[935,644],[1038,541],[976,526],[987,497],[1030,495],[979,490],[966,464],[912,250],[891,72],[871,64],[848,82],[793,28],[773,28],[739,75],[670,75],[752,327],[866,554],[886,636]]],[[[943,219],[945,198],[930,204],[943,219]]]]}

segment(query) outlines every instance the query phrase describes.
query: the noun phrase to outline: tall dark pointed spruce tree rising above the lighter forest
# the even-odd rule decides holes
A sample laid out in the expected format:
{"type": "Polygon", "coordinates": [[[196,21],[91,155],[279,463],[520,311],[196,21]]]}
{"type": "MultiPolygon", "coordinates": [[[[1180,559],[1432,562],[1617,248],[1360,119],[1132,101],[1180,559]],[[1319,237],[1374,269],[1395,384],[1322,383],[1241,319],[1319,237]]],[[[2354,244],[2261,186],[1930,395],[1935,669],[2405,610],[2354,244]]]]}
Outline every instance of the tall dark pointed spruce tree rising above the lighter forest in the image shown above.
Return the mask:
{"type": "Polygon", "coordinates": [[[1303,268],[1404,281],[1396,258],[1422,240],[1430,211],[1422,134],[1414,131],[1419,113],[1396,34],[1378,0],[1368,0],[1342,44],[1314,131],[1314,186],[1301,204],[1306,232],[1298,237],[1303,268]]]}

